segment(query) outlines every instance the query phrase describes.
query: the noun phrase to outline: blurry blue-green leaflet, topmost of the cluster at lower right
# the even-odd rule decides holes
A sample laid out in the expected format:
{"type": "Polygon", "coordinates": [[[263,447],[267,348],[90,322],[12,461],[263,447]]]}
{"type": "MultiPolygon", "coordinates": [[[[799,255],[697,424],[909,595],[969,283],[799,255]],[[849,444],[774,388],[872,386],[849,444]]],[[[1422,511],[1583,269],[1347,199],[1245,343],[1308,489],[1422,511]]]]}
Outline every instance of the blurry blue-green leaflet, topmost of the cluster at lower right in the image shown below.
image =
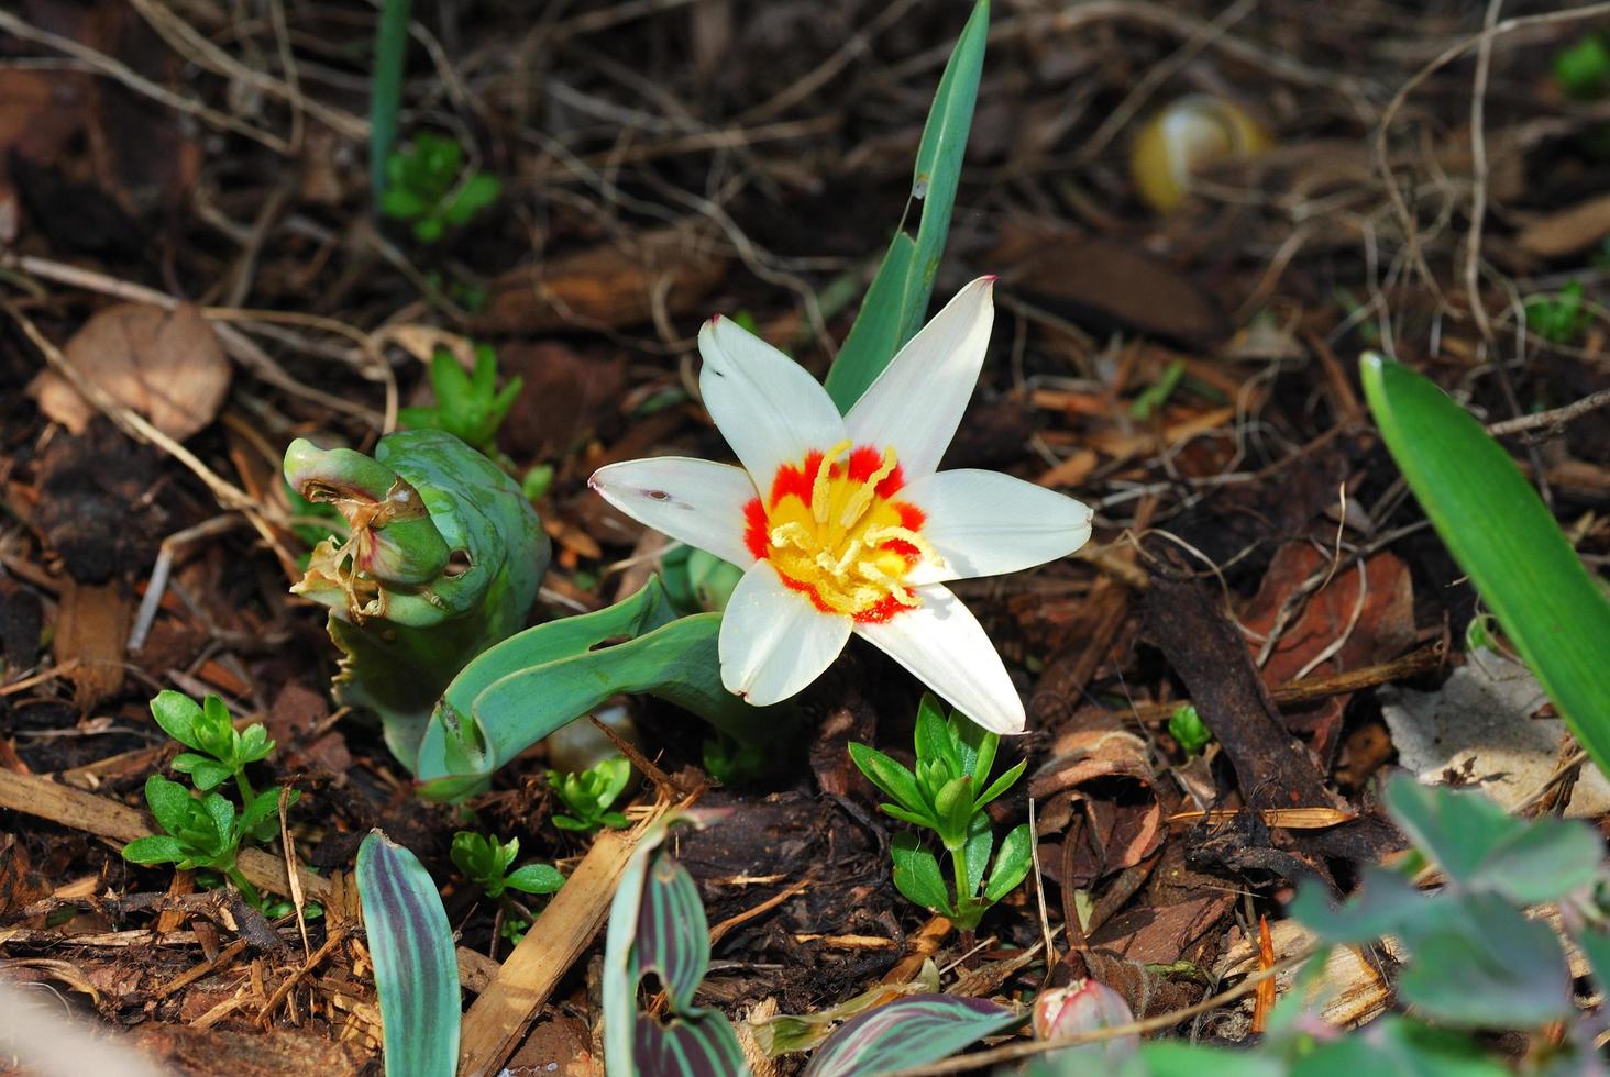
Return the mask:
{"type": "Polygon", "coordinates": [[[1407,774],[1386,787],[1386,808],[1463,889],[1534,905],[1586,887],[1599,874],[1604,847],[1581,823],[1517,819],[1478,792],[1422,786],[1407,774]]]}

